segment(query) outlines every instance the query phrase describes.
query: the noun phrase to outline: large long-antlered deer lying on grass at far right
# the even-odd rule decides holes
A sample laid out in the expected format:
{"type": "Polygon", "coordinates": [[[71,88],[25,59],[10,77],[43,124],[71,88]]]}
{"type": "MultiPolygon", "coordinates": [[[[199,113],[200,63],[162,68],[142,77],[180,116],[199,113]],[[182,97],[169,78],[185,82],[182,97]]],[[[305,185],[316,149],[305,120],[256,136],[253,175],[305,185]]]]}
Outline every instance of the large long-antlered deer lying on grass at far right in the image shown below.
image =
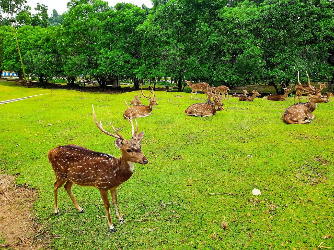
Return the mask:
{"type": "MultiPolygon", "coordinates": [[[[306,72],[307,74],[307,72],[306,72]]],[[[285,123],[288,124],[304,124],[304,123],[311,123],[315,116],[312,114],[313,111],[316,109],[318,103],[325,102],[328,103],[329,100],[326,97],[323,97],[319,91],[316,90],[315,87],[311,86],[309,75],[307,74],[307,78],[309,79],[309,88],[312,89],[304,89],[303,85],[299,81],[299,71],[298,71],[298,84],[300,89],[303,92],[308,93],[309,100],[308,102],[299,102],[297,104],[291,105],[284,111],[282,115],[282,119],[285,123]]]]}

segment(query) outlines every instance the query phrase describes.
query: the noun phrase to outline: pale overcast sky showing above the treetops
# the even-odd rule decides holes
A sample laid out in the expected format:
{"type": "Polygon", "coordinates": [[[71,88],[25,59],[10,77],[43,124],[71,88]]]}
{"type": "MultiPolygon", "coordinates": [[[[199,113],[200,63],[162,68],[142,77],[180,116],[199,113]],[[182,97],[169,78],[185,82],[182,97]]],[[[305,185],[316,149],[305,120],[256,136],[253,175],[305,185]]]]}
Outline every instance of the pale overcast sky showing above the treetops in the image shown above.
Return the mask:
{"type": "MultiPolygon", "coordinates": [[[[151,0],[105,0],[109,3],[109,6],[115,6],[118,2],[126,2],[133,3],[135,5],[141,6],[142,4],[146,4],[149,8],[152,7],[151,0]]],[[[68,0],[27,0],[27,4],[31,7],[31,13],[35,14],[35,7],[37,3],[45,4],[48,7],[49,16],[52,14],[52,10],[55,9],[59,14],[65,12],[66,5],[68,0]]]]}

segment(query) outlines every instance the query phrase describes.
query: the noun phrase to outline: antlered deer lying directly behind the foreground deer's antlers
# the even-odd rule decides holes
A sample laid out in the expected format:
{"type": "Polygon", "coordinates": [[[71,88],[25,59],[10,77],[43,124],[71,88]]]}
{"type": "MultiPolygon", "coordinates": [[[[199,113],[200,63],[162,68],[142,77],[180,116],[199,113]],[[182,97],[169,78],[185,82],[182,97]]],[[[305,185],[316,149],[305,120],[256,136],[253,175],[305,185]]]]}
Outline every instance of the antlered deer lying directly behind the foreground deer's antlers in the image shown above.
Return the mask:
{"type": "Polygon", "coordinates": [[[150,84],[150,87],[152,89],[152,91],[150,90],[152,97],[150,95],[148,95],[149,97],[145,96],[143,93],[143,85],[141,85],[140,87],[142,95],[148,99],[150,104],[147,106],[140,104],[140,105],[137,105],[137,106],[131,107],[130,109],[125,110],[124,115],[123,115],[124,119],[130,118],[131,114],[133,118],[147,117],[147,116],[152,115],[151,112],[153,110],[153,106],[156,106],[158,104],[157,104],[157,100],[155,98],[154,90],[151,84],[150,84]]]}

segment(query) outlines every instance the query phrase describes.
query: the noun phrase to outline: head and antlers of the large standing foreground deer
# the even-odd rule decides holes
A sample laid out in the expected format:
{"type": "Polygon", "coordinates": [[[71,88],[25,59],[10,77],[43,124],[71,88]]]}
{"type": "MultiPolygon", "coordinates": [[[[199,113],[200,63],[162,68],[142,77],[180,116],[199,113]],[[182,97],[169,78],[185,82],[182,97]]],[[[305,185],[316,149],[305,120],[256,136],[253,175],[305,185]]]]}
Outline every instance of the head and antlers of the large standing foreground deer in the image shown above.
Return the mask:
{"type": "MultiPolygon", "coordinates": [[[[124,99],[124,101],[125,101],[125,99],[124,99]]],[[[129,105],[127,104],[126,101],[125,101],[125,103],[128,107],[128,110],[130,111],[129,105]]],[[[115,146],[117,148],[119,148],[120,150],[122,150],[121,158],[125,161],[130,161],[130,162],[134,162],[134,163],[140,163],[140,164],[148,163],[148,159],[143,154],[142,147],[140,145],[140,141],[142,140],[142,138],[144,136],[144,132],[140,132],[140,133],[137,134],[138,124],[137,124],[137,121],[135,119],[136,129],[134,129],[131,111],[130,111],[130,118],[126,117],[130,121],[130,124],[131,124],[131,139],[127,140],[114,128],[113,124],[111,126],[112,126],[113,130],[115,131],[116,135],[106,131],[102,127],[102,122],[100,121],[100,124],[99,124],[97,119],[96,119],[93,104],[92,104],[92,107],[93,107],[93,116],[94,116],[94,121],[95,121],[96,126],[103,133],[116,138],[115,146]]]]}

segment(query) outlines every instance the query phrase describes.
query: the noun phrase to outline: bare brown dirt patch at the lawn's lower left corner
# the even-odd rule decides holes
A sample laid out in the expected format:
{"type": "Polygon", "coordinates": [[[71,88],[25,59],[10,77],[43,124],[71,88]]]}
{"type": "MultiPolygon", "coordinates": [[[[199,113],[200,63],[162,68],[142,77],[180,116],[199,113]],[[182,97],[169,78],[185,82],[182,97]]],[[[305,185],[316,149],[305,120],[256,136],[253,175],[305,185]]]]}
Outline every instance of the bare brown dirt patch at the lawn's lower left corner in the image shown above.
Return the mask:
{"type": "Polygon", "coordinates": [[[0,174],[0,236],[6,242],[0,246],[19,250],[45,246],[33,237],[38,230],[32,217],[36,198],[35,190],[16,185],[15,176],[0,174]]]}

